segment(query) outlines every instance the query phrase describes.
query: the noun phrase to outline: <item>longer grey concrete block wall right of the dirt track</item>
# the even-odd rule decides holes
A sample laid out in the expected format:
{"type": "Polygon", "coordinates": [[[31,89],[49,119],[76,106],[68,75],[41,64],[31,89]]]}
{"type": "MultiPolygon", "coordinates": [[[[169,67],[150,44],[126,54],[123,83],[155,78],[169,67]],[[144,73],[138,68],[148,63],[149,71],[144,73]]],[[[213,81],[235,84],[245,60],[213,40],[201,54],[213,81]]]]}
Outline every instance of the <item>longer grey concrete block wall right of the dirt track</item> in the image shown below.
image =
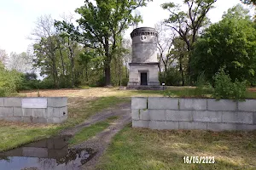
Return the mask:
{"type": "Polygon", "coordinates": [[[131,98],[132,127],[201,129],[212,131],[256,129],[256,99],[131,98]]]}

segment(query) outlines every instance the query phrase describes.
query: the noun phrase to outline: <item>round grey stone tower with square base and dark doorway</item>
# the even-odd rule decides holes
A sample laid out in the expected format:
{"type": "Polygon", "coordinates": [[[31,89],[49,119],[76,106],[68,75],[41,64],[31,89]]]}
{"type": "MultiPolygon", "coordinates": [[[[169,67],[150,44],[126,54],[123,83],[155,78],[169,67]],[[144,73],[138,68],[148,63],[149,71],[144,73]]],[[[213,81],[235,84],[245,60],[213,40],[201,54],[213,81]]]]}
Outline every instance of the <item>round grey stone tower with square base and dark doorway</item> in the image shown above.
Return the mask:
{"type": "Polygon", "coordinates": [[[141,27],[131,32],[132,59],[128,88],[160,87],[158,79],[157,38],[154,28],[141,27]]]}

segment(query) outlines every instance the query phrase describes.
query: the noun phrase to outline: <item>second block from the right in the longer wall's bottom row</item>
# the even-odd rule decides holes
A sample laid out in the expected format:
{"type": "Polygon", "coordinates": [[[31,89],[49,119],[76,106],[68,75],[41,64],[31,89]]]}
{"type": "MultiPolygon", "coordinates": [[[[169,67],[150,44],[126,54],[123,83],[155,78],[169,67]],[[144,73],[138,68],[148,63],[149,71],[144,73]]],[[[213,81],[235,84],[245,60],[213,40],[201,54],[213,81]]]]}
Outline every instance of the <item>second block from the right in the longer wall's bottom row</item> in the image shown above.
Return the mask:
{"type": "Polygon", "coordinates": [[[207,130],[212,131],[225,131],[236,130],[235,123],[222,123],[222,122],[207,122],[207,130]]]}

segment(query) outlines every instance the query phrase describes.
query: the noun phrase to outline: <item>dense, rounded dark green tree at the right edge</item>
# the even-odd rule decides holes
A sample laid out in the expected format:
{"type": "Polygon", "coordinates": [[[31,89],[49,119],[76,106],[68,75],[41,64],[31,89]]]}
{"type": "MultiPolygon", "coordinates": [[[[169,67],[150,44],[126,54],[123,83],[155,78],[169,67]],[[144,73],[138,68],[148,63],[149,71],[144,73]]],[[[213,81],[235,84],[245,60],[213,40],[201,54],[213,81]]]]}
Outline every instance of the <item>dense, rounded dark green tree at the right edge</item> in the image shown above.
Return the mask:
{"type": "Polygon", "coordinates": [[[226,66],[225,71],[229,72],[232,81],[237,78],[255,82],[256,30],[253,21],[244,13],[246,10],[241,11],[240,6],[231,8],[223,20],[210,26],[196,42],[191,61],[194,78],[204,72],[212,82],[218,69],[226,66]]]}

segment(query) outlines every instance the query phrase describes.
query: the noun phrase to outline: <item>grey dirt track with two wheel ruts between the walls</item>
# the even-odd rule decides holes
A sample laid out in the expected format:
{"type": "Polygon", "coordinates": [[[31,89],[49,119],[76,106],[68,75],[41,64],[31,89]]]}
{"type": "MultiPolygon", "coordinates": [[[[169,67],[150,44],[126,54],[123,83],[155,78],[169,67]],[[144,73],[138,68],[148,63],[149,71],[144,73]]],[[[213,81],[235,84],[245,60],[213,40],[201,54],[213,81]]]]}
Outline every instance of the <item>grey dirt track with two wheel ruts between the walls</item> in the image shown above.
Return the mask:
{"type": "Polygon", "coordinates": [[[75,133],[78,133],[82,128],[88,127],[96,122],[104,121],[109,116],[119,116],[119,119],[113,122],[110,127],[101,133],[98,133],[95,137],[84,141],[82,144],[73,146],[73,148],[92,148],[96,150],[96,155],[90,161],[85,163],[81,169],[95,169],[97,162],[99,161],[104,151],[108,148],[108,144],[110,144],[113,136],[118,133],[119,130],[125,127],[127,123],[131,122],[131,103],[129,102],[120,104],[112,109],[97,113],[95,116],[91,116],[88,120],[79,124],[78,126],[66,129],[65,131],[61,132],[61,135],[74,135],[75,133]]]}

